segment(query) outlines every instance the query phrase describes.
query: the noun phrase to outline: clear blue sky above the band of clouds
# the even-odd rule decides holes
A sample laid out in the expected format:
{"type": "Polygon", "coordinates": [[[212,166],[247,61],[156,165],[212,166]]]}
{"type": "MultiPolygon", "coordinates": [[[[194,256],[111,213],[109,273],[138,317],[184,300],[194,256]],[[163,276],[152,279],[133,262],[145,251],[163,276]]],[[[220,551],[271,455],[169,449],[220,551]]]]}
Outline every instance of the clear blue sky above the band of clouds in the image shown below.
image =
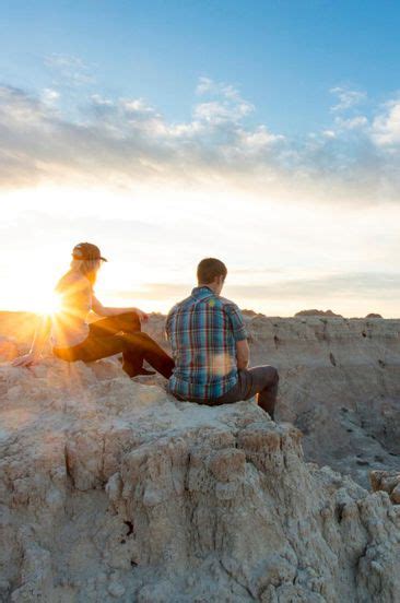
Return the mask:
{"type": "Polygon", "coordinates": [[[8,83],[51,87],[46,58],[79,57],[89,94],[143,97],[170,120],[189,117],[201,75],[237,86],[251,119],[286,134],[327,125],[332,87],[367,92],[366,111],[397,92],[396,1],[13,0],[0,20],[8,83]]]}

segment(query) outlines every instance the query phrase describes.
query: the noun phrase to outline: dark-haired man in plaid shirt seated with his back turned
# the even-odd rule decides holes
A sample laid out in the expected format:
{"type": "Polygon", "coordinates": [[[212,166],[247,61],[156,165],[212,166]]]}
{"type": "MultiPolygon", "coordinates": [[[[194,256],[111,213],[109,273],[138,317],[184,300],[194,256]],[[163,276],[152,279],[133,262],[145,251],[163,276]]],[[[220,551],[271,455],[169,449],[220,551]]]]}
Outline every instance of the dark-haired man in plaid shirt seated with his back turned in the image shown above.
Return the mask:
{"type": "Polygon", "coordinates": [[[176,304],[166,321],[175,360],[168,390],[178,400],[226,404],[257,394],[271,418],[279,376],[272,366],[248,368],[249,346],[244,319],[233,302],[220,297],[227,270],[214,258],[201,260],[198,286],[176,304]]]}

